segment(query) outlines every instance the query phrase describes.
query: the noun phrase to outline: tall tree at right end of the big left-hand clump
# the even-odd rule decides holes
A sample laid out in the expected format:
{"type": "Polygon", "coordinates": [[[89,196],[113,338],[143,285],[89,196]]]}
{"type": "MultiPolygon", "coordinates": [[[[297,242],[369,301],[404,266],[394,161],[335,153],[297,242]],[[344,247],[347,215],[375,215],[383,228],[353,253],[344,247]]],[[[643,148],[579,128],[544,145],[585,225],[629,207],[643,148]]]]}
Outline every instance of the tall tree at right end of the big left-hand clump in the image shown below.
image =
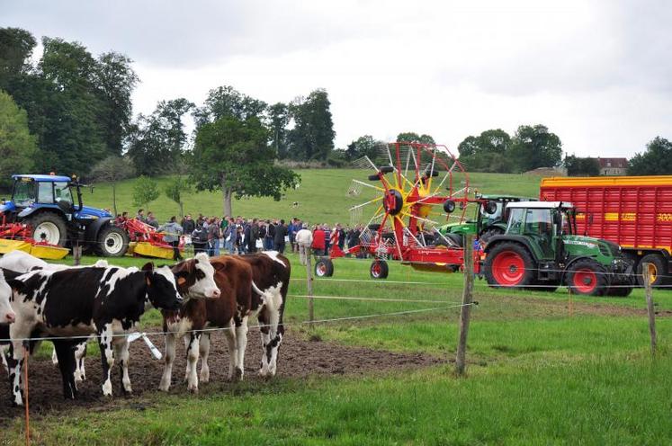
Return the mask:
{"type": "Polygon", "coordinates": [[[94,68],[95,91],[102,102],[103,139],[107,151],[117,156],[130,125],[130,94],[139,81],[131,63],[130,58],[111,51],[102,54],[94,68]]]}

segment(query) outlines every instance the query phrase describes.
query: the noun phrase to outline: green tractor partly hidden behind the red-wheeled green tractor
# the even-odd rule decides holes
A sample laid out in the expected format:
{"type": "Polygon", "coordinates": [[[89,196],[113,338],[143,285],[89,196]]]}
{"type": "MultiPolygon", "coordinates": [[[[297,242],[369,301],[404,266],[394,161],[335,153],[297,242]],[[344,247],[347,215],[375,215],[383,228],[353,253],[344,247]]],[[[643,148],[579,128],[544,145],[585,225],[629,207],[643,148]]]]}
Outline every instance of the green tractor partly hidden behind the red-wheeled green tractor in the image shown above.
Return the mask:
{"type": "Polygon", "coordinates": [[[476,194],[477,208],[474,219],[463,223],[449,223],[439,228],[439,232],[461,245],[462,236],[477,236],[482,245],[486,245],[492,236],[500,236],[506,232],[506,205],[517,201],[533,201],[534,199],[515,197],[513,195],[482,195],[476,194]],[[452,236],[451,236],[452,235],[452,236]]]}

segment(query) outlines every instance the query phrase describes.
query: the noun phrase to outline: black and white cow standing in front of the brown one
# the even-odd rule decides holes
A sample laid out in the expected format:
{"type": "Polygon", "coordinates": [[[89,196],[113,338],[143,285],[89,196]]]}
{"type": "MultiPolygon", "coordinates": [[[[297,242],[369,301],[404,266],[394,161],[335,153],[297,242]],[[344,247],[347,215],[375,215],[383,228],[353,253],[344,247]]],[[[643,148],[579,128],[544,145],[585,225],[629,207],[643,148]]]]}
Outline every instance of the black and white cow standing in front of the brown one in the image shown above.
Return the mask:
{"type": "MultiPolygon", "coordinates": [[[[177,277],[179,280],[180,275],[177,277]]],[[[97,335],[103,365],[103,395],[112,396],[115,356],[121,361],[121,387],[130,393],[129,344],[123,334],[139,322],[148,304],[175,310],[183,302],[170,268],[155,268],[153,263],[147,263],[142,270],[115,266],[56,272],[37,270],[7,283],[13,289],[11,303],[16,314],[10,326],[12,343],[8,359],[15,405],[23,403],[25,339],[54,338],[64,395],[75,398],[74,348],[88,335],[97,335]]]]}

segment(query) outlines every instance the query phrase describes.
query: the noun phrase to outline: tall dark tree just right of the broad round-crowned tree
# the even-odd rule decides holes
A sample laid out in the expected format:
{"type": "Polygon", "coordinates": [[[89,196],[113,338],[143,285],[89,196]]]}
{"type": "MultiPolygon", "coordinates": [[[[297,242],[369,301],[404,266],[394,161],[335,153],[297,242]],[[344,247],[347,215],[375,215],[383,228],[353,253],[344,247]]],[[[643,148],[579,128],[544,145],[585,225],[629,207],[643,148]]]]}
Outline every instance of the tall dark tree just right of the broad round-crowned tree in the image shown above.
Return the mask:
{"type": "Polygon", "coordinates": [[[334,149],[334,122],[331,119],[327,90],[318,89],[307,98],[291,102],[290,113],[294,128],[290,130],[289,155],[298,160],[326,160],[334,149]]]}

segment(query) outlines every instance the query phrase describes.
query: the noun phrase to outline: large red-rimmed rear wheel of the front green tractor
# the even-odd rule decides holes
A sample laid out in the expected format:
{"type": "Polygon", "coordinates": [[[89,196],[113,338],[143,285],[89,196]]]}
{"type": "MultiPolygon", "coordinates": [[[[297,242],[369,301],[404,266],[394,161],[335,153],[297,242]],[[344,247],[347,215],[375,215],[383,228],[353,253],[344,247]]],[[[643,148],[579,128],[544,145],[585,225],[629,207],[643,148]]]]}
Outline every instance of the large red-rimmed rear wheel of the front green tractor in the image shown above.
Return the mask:
{"type": "Polygon", "coordinates": [[[495,246],[486,257],[486,281],[496,288],[524,288],[534,283],[534,261],[527,250],[516,243],[495,246]]]}

